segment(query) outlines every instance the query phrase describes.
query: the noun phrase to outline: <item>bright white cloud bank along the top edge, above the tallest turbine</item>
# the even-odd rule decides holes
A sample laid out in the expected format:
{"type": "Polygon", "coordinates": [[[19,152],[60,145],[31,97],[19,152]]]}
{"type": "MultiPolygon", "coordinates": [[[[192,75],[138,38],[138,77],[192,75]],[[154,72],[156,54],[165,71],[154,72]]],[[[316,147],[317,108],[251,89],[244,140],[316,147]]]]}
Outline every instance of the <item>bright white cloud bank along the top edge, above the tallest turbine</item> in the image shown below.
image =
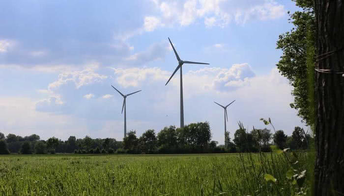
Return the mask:
{"type": "MultiPolygon", "coordinates": [[[[284,6],[275,0],[231,1],[231,0],[152,0],[160,11],[154,20],[164,24],[187,26],[197,19],[204,21],[206,27],[225,27],[231,21],[245,24],[249,20],[273,20],[284,15],[284,6]]],[[[155,23],[156,24],[156,23],[155,23]]],[[[171,26],[170,25],[170,26],[171,26]]],[[[149,31],[155,29],[149,28],[149,31]]]]}

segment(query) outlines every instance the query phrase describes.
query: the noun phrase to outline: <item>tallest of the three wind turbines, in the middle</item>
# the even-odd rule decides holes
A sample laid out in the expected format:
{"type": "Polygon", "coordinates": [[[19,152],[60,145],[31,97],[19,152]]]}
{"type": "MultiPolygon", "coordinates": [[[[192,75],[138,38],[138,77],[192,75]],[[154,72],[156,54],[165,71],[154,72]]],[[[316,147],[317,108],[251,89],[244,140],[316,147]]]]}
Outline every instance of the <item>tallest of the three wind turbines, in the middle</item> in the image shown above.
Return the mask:
{"type": "Polygon", "coordinates": [[[199,62],[192,62],[192,61],[183,61],[180,60],[177,51],[175,51],[173,44],[169,38],[170,44],[172,46],[172,49],[174,51],[175,57],[178,60],[178,66],[177,68],[175,68],[174,72],[172,73],[170,79],[166,82],[165,86],[169,83],[169,81],[171,80],[171,78],[173,77],[173,75],[178,71],[178,69],[180,68],[180,128],[184,127],[184,106],[183,106],[183,77],[182,77],[182,65],[184,63],[189,63],[189,64],[204,64],[204,65],[209,65],[209,63],[199,63],[199,62]]]}

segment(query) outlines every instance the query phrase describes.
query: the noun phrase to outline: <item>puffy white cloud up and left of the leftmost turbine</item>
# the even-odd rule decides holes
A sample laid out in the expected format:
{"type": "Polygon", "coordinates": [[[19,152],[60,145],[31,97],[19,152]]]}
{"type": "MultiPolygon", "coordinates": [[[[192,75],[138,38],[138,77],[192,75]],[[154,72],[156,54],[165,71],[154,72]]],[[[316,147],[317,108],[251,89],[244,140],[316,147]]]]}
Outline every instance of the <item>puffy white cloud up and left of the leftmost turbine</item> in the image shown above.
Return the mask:
{"type": "Polygon", "coordinates": [[[66,84],[68,82],[74,82],[75,87],[79,89],[84,85],[100,82],[108,77],[106,75],[95,73],[95,70],[97,69],[97,64],[91,64],[82,71],[60,73],[58,75],[58,80],[48,85],[48,90],[58,88],[59,86],[66,84]]]}

